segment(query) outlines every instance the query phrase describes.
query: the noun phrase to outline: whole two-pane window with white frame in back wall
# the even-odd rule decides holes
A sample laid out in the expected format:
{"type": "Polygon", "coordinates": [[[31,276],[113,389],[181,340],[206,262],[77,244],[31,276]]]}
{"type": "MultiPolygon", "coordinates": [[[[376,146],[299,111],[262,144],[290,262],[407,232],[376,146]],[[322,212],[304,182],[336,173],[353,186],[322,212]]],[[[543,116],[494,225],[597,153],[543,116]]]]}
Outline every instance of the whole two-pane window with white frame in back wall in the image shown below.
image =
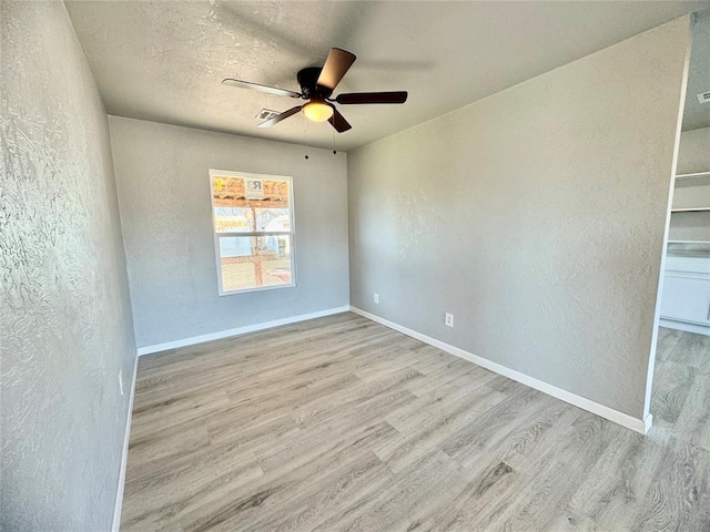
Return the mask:
{"type": "Polygon", "coordinates": [[[210,170],[220,295],[295,286],[291,177],[210,170]]]}

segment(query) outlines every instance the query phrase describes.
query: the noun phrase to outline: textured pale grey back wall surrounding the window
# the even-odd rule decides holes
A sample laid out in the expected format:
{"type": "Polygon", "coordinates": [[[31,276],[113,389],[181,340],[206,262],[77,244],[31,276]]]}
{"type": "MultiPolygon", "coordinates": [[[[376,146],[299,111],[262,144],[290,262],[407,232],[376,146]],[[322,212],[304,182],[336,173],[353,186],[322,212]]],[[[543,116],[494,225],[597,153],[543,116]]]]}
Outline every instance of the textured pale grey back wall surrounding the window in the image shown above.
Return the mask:
{"type": "Polygon", "coordinates": [[[111,116],[140,347],[348,304],[346,156],[111,116]],[[293,288],[217,295],[209,170],[293,176],[293,288]]]}

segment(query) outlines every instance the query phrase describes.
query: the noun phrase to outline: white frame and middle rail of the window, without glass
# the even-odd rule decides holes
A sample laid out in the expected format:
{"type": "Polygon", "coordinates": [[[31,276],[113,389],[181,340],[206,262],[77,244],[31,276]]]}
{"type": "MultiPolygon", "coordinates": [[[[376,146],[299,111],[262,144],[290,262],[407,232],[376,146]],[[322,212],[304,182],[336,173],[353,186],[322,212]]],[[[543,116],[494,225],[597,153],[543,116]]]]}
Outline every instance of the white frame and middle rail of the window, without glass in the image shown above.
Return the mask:
{"type": "MultiPolygon", "coordinates": [[[[217,293],[220,296],[237,296],[240,294],[247,294],[251,291],[264,291],[264,290],[274,290],[278,288],[292,288],[296,286],[296,226],[295,226],[295,202],[293,197],[293,177],[288,175],[272,175],[272,174],[251,174],[247,172],[234,172],[229,170],[214,170],[210,168],[210,205],[212,209],[212,236],[214,239],[214,259],[216,265],[217,273],[217,293]],[[225,177],[242,177],[245,180],[273,180],[273,181],[286,181],[288,183],[288,217],[290,217],[290,227],[288,233],[278,232],[274,233],[271,231],[252,231],[252,232],[229,232],[229,233],[217,233],[215,225],[215,216],[214,216],[214,194],[212,192],[212,178],[214,176],[225,176],[225,177]],[[273,236],[273,235],[282,235],[288,236],[290,238],[290,253],[291,253],[291,283],[287,285],[272,285],[272,286],[258,286],[255,288],[244,288],[241,290],[229,290],[225,291],[222,286],[222,254],[220,252],[220,238],[221,237],[230,237],[230,236],[243,236],[243,237],[262,237],[262,236],[273,236]]],[[[254,221],[255,223],[256,221],[254,221]]]]}

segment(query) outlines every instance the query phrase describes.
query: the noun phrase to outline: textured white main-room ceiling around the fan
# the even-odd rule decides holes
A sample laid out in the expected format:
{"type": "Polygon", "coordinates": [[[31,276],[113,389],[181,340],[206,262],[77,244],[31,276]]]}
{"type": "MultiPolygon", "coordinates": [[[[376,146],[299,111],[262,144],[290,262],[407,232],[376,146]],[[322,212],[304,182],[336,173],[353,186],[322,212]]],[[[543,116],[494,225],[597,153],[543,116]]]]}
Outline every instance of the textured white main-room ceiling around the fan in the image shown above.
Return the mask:
{"type": "Polygon", "coordinates": [[[110,114],[337,150],[710,7],[708,0],[65,3],[110,114]],[[221,84],[239,78],[298,91],[296,72],[322,65],[332,47],[358,58],[335,94],[407,90],[407,103],[341,105],[353,125],[342,134],[327,123],[306,127],[302,114],[257,129],[262,108],[285,111],[296,101],[221,84]]]}

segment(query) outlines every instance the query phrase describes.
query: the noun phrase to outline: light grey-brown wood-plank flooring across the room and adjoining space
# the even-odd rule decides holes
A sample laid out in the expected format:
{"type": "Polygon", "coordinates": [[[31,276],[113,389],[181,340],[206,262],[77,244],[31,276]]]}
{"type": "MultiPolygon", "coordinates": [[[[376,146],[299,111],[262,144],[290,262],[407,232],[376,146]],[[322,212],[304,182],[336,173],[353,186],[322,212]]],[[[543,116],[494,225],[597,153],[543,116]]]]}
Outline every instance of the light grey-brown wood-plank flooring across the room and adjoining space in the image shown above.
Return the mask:
{"type": "Polygon", "coordinates": [[[710,531],[710,338],[643,437],[354,314],[143,357],[123,531],[710,531]]]}

